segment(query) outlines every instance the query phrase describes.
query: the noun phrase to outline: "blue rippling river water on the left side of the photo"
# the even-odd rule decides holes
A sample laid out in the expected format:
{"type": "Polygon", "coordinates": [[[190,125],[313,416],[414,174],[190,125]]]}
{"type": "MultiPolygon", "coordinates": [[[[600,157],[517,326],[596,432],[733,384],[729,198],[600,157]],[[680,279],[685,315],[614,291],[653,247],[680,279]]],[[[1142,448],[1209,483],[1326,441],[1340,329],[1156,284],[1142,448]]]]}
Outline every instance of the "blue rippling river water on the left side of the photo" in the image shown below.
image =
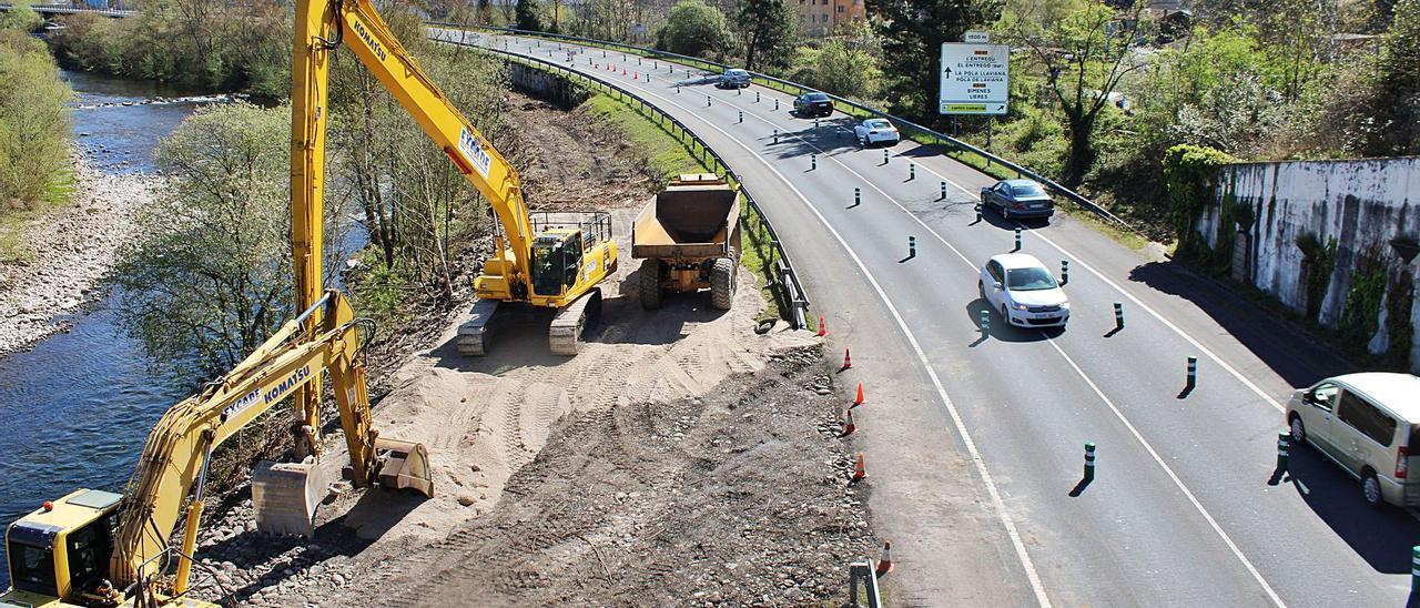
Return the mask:
{"type": "MultiPolygon", "coordinates": [[[[142,104],[190,92],[64,75],[78,94],[75,141],[108,172],[152,170],[153,146],[199,104],[142,104]]],[[[111,301],[71,317],[71,332],[0,358],[0,524],[80,487],[119,490],[148,430],[192,389],[145,369],[143,347],[116,325],[111,301]]],[[[0,567],[0,588],[7,585],[9,568],[0,567]]]]}

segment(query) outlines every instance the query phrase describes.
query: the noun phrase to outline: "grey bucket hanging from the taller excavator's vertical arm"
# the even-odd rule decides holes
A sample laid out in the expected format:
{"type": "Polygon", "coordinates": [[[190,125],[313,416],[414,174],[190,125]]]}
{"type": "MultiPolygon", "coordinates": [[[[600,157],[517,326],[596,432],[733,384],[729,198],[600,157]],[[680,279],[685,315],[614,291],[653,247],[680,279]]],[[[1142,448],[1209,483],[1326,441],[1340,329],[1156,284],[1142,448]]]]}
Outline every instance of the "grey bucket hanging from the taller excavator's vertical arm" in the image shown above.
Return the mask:
{"type": "Polygon", "coordinates": [[[325,480],[315,459],[260,462],[251,472],[251,507],[263,533],[314,537],[315,507],[324,494],[325,480]]]}

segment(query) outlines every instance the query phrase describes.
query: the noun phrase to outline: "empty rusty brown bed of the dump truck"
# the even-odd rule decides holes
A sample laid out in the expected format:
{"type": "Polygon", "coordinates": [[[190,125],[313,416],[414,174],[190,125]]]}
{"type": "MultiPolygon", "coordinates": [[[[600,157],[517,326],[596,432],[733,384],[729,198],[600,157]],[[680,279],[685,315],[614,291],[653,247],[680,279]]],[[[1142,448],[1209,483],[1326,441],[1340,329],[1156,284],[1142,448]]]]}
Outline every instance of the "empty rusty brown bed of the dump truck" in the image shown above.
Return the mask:
{"type": "Polygon", "coordinates": [[[724,257],[738,226],[738,192],[720,180],[676,180],[636,216],[630,257],[724,257]]]}

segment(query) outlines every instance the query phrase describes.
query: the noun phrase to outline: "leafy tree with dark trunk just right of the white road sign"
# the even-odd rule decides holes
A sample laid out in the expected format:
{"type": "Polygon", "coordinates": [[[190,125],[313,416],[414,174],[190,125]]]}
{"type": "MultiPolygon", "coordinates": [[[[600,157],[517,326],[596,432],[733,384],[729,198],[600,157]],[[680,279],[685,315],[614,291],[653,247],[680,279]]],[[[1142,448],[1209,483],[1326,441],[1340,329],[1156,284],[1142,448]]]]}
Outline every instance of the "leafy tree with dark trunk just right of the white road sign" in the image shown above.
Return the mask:
{"type": "Polygon", "coordinates": [[[1095,124],[1110,105],[1109,95],[1127,74],[1146,65],[1135,53],[1149,38],[1142,17],[1142,1],[1116,13],[1089,0],[1055,21],[1031,16],[1007,20],[1010,37],[1047,72],[1049,94],[1065,114],[1066,186],[1078,186],[1095,165],[1095,124]]]}

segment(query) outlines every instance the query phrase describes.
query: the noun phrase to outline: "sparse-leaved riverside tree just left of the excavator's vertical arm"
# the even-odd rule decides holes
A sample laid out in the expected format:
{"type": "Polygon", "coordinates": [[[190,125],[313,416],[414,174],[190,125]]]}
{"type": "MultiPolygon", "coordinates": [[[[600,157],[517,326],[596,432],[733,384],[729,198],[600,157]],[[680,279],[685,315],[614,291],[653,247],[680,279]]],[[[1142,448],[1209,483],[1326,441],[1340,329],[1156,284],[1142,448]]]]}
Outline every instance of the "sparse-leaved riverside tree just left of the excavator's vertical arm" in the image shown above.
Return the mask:
{"type": "MultiPolygon", "coordinates": [[[[119,318],[153,362],[222,374],[293,317],[290,141],[290,107],[234,102],[197,109],[159,145],[169,183],[114,273],[119,318]]],[[[325,241],[332,270],[339,232],[325,241]]]]}

